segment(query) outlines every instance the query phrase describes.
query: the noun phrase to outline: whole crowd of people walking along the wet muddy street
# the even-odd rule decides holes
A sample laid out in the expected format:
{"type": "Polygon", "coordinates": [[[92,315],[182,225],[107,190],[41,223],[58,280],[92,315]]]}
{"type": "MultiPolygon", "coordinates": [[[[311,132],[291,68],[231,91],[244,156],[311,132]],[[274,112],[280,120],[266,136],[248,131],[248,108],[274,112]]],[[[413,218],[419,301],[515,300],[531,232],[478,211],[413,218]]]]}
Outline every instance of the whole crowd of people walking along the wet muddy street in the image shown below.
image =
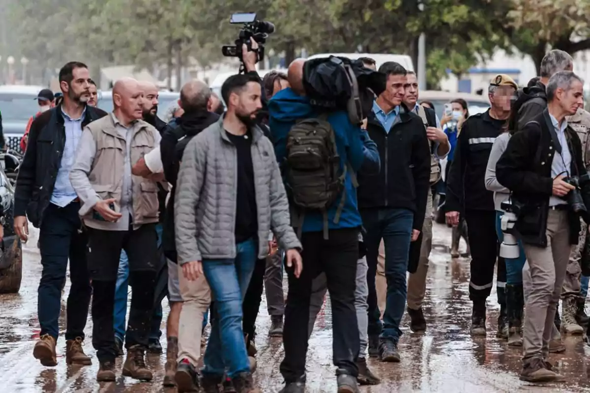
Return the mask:
{"type": "Polygon", "coordinates": [[[96,85],[81,62],[61,69],[57,103],[41,91],[40,112],[21,141],[14,208],[23,241],[29,222],[40,229],[34,357],[57,365],[69,260],[65,361],[93,361],[83,350],[91,303],[99,382],[116,379],[115,359],[125,354],[124,376],[153,378],[145,356],[163,351],[167,297],[163,384],[260,391],[253,340],[264,287],[269,335],[283,338],[282,393],[304,392],[308,340],[327,291],[337,391],[379,384],[367,358],[401,361],[404,313],[412,331],[427,329],[432,195],[447,158],[451,255],[463,236],[472,257],[471,334],[486,335],[497,264],[497,335],[522,348],[520,378],[562,379],[547,355],[565,349],[560,330],[582,334],[588,323],[575,246],[585,242],[588,217],[570,196],[590,197],[590,114],[572,58],[549,52],[525,90],[497,75],[489,110],[469,116],[467,103],[454,100],[441,120],[431,103],[420,103],[413,71],[395,62],[376,70],[363,58],[386,84],[355,124],[346,110],[312,104],[304,60],[261,80],[255,42],[252,49],[242,53],[245,74],[221,88],[225,107],[207,84],[189,81],[165,120],[156,115],[158,88],[130,78],[114,84],[112,113],[96,108],[96,85]],[[519,211],[516,258],[498,255],[507,204],[519,211]]]}

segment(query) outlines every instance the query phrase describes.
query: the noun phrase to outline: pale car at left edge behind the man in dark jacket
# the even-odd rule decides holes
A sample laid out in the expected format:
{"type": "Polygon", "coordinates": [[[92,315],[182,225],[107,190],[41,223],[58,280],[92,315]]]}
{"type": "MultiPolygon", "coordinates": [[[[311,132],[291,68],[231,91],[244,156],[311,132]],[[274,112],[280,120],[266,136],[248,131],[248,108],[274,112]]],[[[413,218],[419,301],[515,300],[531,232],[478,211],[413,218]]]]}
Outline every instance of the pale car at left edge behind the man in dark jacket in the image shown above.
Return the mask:
{"type": "Polygon", "coordinates": [[[39,111],[37,95],[42,86],[2,85],[0,86],[0,114],[6,146],[21,151],[21,137],[32,115],[39,111]]]}

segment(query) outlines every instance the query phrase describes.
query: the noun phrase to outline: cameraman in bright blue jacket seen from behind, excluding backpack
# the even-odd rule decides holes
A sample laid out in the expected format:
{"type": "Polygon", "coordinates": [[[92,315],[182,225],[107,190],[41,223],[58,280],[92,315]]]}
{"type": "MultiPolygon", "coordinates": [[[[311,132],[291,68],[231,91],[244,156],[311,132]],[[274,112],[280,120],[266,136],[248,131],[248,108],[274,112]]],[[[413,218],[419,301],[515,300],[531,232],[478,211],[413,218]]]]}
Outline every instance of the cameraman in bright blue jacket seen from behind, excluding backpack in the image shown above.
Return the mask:
{"type": "MultiPolygon", "coordinates": [[[[290,65],[291,88],[278,92],[268,104],[269,125],[279,163],[284,163],[286,159],[287,135],[296,121],[317,118],[320,115],[306,97],[303,88],[303,64],[303,60],[296,60],[290,65]]],[[[346,111],[330,113],[327,115],[327,121],[335,132],[341,169],[348,166],[355,172],[361,167],[373,172],[379,170],[379,155],[375,144],[365,131],[350,123],[346,111]]],[[[286,382],[286,387],[281,391],[284,393],[303,393],[305,389],[309,302],[312,280],[320,272],[326,273],[332,299],[333,361],[338,368],[338,387],[346,391],[358,391],[358,367],[355,361],[359,353],[359,331],[356,323],[355,288],[359,255],[358,235],[362,220],[357,207],[353,177],[349,172],[345,177],[343,197],[339,220],[335,220],[335,216],[342,197],[338,197],[327,209],[327,239],[324,236],[325,221],[321,212],[306,211],[300,224],[301,228],[298,228],[301,233],[301,256],[305,260],[305,268],[299,279],[295,278],[292,269],[287,269],[289,296],[283,331],[285,358],[280,366],[286,382]]],[[[291,207],[294,207],[293,203],[291,207]]]]}

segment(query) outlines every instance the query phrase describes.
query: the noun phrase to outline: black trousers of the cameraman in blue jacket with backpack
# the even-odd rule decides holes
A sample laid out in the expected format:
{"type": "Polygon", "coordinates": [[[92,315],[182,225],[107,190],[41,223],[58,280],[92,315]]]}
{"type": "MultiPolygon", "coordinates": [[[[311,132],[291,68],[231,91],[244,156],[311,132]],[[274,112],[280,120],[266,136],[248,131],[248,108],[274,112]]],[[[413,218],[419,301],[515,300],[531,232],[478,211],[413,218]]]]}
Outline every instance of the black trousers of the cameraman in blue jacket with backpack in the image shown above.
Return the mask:
{"type": "Polygon", "coordinates": [[[356,377],[355,360],[359,355],[359,328],[356,321],[356,262],[359,258],[359,229],[330,230],[325,240],[322,232],[306,232],[301,236],[304,268],[296,278],[293,268],[289,276],[289,295],[285,308],[283,346],[285,358],[280,371],[287,383],[305,374],[307,329],[312,280],[326,273],[332,302],[333,361],[346,374],[356,377]]]}

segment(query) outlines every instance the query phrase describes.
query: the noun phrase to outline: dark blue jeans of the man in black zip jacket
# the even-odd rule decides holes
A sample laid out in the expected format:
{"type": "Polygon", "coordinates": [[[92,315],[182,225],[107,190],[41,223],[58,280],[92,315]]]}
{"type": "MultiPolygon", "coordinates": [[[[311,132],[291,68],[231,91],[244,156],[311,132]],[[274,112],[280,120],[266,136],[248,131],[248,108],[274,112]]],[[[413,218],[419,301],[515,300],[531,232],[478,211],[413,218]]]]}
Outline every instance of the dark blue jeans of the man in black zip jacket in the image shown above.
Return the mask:
{"type": "Polygon", "coordinates": [[[412,240],[414,213],[408,209],[371,209],[361,212],[366,235],[363,236],[367,251],[367,283],[369,286],[369,335],[381,333],[381,338],[399,340],[402,331],[399,325],[404,316],[407,286],[409,245],[412,240]],[[379,321],[379,307],[375,289],[379,243],[385,245],[385,278],[387,296],[383,326],[379,321]]]}

